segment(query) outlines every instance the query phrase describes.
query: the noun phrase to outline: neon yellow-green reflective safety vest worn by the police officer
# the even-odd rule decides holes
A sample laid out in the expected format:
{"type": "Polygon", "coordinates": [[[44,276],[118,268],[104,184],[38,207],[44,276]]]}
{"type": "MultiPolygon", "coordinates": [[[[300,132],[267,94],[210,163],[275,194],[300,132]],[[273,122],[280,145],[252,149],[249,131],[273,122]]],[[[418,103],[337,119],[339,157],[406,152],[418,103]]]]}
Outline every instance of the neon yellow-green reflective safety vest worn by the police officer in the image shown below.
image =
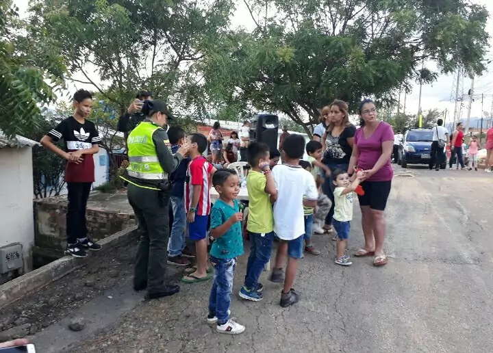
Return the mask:
{"type": "Polygon", "coordinates": [[[167,177],[161,168],[154,141],[154,131],[160,129],[152,122],[142,121],[131,131],[128,140],[129,177],[149,181],[162,181],[167,177]]]}

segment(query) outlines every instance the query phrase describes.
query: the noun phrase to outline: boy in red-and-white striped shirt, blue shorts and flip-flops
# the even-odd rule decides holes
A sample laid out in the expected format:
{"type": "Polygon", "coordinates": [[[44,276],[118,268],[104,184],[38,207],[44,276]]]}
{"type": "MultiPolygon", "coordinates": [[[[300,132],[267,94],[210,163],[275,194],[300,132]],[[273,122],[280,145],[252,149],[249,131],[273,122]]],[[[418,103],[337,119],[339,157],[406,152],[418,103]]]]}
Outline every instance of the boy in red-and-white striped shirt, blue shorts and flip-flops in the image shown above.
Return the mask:
{"type": "MultiPolygon", "coordinates": [[[[197,252],[197,269],[181,278],[184,283],[198,283],[211,278],[207,271],[207,221],[211,202],[210,187],[212,174],[216,168],[212,166],[203,153],[207,148],[207,138],[200,133],[188,135],[190,145],[188,156],[192,161],[188,164],[185,183],[185,207],[188,221],[188,237],[195,241],[197,252]]],[[[193,267],[192,267],[193,268],[193,267]]],[[[193,270],[192,270],[193,271],[193,270]]]]}

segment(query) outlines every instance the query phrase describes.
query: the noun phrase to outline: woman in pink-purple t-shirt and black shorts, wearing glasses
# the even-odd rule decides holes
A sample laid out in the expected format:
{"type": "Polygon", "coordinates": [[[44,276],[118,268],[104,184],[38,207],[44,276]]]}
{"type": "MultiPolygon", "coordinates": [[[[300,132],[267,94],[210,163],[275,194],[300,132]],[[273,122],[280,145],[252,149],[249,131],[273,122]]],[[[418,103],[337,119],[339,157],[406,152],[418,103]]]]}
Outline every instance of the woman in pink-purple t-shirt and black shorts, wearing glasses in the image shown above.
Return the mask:
{"type": "Polygon", "coordinates": [[[387,122],[377,119],[377,108],[370,99],[359,103],[359,117],[360,127],[355,133],[348,170],[353,172],[357,167],[366,174],[361,183],[364,195],[358,195],[365,245],[355,252],[355,257],[375,255],[373,265],[381,266],[387,263],[383,252],[386,233],[384,211],[394,176],[390,164],[394,131],[387,122]]]}

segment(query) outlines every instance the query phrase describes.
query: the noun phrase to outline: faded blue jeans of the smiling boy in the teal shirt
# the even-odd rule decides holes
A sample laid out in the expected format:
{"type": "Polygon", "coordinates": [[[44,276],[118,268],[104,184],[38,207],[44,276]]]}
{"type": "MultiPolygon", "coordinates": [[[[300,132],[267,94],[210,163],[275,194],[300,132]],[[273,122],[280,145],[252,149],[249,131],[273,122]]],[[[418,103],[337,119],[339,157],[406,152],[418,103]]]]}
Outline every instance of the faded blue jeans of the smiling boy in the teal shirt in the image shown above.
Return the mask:
{"type": "Polygon", "coordinates": [[[217,259],[211,256],[210,262],[214,267],[214,282],[209,297],[209,314],[216,315],[218,325],[223,325],[229,320],[236,259],[217,259]]]}

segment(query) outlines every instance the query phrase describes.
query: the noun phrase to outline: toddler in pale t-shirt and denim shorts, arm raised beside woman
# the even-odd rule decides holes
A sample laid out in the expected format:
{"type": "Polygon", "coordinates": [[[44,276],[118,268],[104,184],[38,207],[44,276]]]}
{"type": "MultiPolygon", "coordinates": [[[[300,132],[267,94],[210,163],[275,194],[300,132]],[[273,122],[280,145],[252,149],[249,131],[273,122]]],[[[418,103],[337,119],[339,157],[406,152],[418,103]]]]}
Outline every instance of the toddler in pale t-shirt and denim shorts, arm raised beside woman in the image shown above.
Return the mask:
{"type": "Polygon", "coordinates": [[[349,266],[353,264],[349,256],[344,252],[349,239],[350,222],[353,220],[353,195],[362,177],[364,177],[364,172],[360,170],[356,173],[356,178],[351,183],[346,170],[336,169],[332,174],[333,183],[336,185],[336,189],[333,192],[334,215],[332,225],[338,233],[336,246],[336,263],[338,265],[349,266]]]}

